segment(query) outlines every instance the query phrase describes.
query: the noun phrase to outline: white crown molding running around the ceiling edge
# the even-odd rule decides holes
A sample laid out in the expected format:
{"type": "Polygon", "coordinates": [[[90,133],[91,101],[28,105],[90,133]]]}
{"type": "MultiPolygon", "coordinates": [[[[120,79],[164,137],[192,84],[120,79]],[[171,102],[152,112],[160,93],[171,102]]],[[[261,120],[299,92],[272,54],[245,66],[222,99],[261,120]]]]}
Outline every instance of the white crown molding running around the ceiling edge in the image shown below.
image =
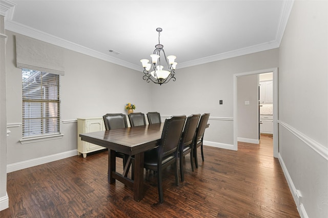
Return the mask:
{"type": "MultiPolygon", "coordinates": [[[[179,63],[177,66],[177,69],[179,68],[185,68],[185,67],[190,67],[190,66],[195,66],[195,65],[200,65],[200,64],[206,64],[214,61],[219,61],[223,59],[228,59],[228,58],[233,58],[233,57],[238,57],[242,55],[248,55],[252,53],[257,53],[257,52],[262,52],[262,51],[267,51],[271,49],[276,49],[280,46],[280,42],[285,30],[285,27],[287,25],[292,7],[294,4],[294,0],[289,0],[289,1],[283,1],[282,6],[281,6],[281,14],[279,17],[279,22],[278,22],[278,28],[277,28],[277,33],[276,33],[276,39],[270,42],[266,43],[261,43],[257,44],[254,46],[249,46],[249,47],[244,47],[242,49],[226,52],[226,53],[221,53],[209,57],[204,57],[196,60],[191,60],[187,62],[182,62],[179,63]]],[[[31,27],[22,25],[21,23],[12,21],[14,9],[15,9],[16,4],[10,2],[10,1],[1,1],[1,15],[5,14],[6,17],[6,22],[5,22],[5,29],[19,33],[22,35],[26,35],[41,41],[45,41],[60,47],[64,47],[65,49],[72,50],[81,54],[85,54],[94,58],[98,58],[100,60],[104,60],[107,62],[111,62],[120,66],[124,66],[130,69],[134,69],[137,71],[142,71],[140,69],[139,65],[129,63],[127,61],[106,55],[104,53],[97,52],[95,50],[89,49],[88,47],[61,39],[59,37],[47,34],[45,32],[33,29],[31,27]]]]}

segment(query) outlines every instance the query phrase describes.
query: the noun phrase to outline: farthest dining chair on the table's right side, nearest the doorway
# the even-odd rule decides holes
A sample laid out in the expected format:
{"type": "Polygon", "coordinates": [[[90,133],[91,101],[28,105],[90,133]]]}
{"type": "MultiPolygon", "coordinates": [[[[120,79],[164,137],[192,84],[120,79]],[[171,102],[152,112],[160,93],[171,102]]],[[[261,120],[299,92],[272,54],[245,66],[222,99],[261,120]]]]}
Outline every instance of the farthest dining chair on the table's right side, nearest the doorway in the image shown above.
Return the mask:
{"type": "Polygon", "coordinates": [[[193,148],[193,156],[195,158],[196,168],[198,168],[197,148],[199,148],[199,147],[200,147],[200,151],[201,151],[201,159],[202,159],[202,161],[204,161],[203,137],[204,137],[204,132],[205,132],[206,125],[207,125],[207,122],[209,120],[209,117],[210,117],[210,113],[202,114],[200,119],[199,119],[198,126],[197,126],[195,139],[194,139],[194,148],[193,148]]]}

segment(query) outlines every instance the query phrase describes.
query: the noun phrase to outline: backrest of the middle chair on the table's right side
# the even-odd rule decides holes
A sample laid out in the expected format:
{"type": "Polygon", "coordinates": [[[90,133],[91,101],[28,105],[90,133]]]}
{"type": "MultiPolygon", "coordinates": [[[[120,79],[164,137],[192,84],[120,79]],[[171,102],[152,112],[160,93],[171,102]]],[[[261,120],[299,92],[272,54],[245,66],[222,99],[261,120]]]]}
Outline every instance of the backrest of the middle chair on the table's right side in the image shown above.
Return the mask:
{"type": "Polygon", "coordinates": [[[183,150],[183,147],[190,146],[193,143],[199,118],[200,118],[200,114],[192,114],[187,117],[185,128],[183,128],[183,132],[181,136],[180,151],[183,150]]]}

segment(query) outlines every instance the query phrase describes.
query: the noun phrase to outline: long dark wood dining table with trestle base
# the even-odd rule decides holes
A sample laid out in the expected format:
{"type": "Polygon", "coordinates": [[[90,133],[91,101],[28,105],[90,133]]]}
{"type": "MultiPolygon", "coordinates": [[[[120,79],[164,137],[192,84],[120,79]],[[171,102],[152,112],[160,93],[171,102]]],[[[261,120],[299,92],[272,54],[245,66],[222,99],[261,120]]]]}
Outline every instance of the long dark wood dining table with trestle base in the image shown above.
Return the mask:
{"type": "Polygon", "coordinates": [[[99,132],[79,134],[81,140],[108,149],[108,182],[118,180],[133,189],[133,199],[144,198],[144,152],[159,146],[164,123],[113,129],[99,132]],[[130,164],[126,164],[124,172],[116,172],[116,152],[121,152],[134,159],[134,178],[128,178],[130,164]]]}

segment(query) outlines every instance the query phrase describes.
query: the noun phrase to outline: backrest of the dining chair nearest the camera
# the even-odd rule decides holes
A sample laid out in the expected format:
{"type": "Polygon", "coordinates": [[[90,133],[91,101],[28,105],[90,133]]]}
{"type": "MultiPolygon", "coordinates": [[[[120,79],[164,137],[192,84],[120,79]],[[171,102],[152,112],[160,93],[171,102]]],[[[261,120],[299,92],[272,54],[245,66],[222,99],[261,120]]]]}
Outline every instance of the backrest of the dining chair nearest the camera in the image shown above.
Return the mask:
{"type": "Polygon", "coordinates": [[[186,115],[172,116],[165,120],[159,144],[159,160],[177,151],[186,115]]]}

